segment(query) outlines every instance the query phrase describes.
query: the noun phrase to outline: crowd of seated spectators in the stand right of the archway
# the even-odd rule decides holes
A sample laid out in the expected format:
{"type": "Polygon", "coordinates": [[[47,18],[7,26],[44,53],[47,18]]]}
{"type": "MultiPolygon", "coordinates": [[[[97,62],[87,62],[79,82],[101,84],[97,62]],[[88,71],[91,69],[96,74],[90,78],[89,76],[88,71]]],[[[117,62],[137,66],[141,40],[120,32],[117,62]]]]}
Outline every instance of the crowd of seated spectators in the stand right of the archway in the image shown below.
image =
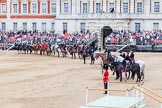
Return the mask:
{"type": "Polygon", "coordinates": [[[152,45],[162,43],[162,31],[114,31],[105,38],[105,44],[152,45]]]}

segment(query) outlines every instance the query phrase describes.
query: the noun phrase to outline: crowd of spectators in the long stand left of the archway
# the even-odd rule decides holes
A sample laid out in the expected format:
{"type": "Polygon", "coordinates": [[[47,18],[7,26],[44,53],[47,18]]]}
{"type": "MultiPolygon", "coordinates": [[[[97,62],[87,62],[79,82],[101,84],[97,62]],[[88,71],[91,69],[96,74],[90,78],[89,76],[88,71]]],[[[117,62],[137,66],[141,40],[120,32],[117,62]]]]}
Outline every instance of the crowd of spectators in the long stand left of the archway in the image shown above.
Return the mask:
{"type": "Polygon", "coordinates": [[[72,33],[72,34],[59,34],[54,32],[37,32],[37,31],[17,31],[17,32],[0,32],[0,43],[8,43],[15,41],[30,41],[33,43],[37,42],[48,42],[54,44],[54,42],[64,42],[67,43],[82,43],[87,42],[91,38],[93,38],[95,34],[87,31],[82,33],[72,33]]]}

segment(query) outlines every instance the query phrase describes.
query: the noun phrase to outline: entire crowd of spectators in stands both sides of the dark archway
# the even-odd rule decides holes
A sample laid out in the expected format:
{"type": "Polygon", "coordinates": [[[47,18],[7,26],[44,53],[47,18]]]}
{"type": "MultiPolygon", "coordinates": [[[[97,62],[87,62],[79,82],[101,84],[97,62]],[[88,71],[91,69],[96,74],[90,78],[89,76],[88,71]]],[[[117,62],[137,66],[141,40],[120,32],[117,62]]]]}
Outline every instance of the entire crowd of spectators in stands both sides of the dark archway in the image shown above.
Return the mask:
{"type": "MultiPolygon", "coordinates": [[[[95,37],[95,32],[75,32],[72,34],[59,34],[54,32],[37,32],[37,31],[17,31],[17,32],[0,32],[0,43],[8,43],[15,41],[31,41],[48,42],[53,44],[54,42],[66,43],[83,43],[88,42],[95,37]]],[[[162,43],[162,31],[141,31],[131,32],[129,30],[113,31],[109,36],[105,38],[105,44],[132,44],[132,45],[152,45],[162,43]]]]}

